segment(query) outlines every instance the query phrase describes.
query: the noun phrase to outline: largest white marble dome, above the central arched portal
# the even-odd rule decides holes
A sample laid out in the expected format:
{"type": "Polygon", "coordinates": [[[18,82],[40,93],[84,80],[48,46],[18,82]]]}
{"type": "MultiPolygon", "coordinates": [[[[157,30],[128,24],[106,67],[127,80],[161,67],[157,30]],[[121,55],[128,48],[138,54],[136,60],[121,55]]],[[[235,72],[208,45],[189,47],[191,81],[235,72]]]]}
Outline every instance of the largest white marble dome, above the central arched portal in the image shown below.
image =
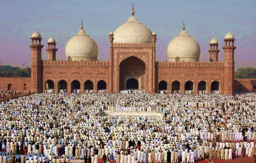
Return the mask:
{"type": "Polygon", "coordinates": [[[152,32],[132,16],[114,32],[113,43],[152,43],[152,32]]]}

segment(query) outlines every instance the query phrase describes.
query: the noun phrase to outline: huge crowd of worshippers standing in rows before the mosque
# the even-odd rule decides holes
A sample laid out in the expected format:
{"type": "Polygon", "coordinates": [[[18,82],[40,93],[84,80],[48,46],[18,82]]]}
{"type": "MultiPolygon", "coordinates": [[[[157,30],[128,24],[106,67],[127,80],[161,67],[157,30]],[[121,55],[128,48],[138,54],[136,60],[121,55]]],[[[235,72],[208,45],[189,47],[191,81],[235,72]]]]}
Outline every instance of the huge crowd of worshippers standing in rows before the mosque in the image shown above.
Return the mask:
{"type": "Polygon", "coordinates": [[[0,150],[53,163],[70,157],[89,163],[251,157],[255,100],[256,93],[31,94],[2,101],[0,150]],[[161,111],[163,116],[104,116],[104,110],[161,111]]]}

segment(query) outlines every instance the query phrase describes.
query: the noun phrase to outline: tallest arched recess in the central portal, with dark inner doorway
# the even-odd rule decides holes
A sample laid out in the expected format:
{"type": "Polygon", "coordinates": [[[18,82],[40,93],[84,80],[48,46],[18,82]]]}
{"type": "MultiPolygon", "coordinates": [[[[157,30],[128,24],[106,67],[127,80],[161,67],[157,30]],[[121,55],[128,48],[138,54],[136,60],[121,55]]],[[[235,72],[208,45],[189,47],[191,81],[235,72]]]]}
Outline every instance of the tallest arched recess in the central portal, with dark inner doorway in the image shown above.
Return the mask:
{"type": "Polygon", "coordinates": [[[124,89],[143,89],[145,88],[145,63],[135,56],[130,56],[124,59],[119,65],[119,90],[124,89]],[[128,87],[127,82],[129,79],[128,87]],[[138,84],[137,84],[137,81],[138,84]],[[133,85],[129,85],[133,84],[133,85]]]}

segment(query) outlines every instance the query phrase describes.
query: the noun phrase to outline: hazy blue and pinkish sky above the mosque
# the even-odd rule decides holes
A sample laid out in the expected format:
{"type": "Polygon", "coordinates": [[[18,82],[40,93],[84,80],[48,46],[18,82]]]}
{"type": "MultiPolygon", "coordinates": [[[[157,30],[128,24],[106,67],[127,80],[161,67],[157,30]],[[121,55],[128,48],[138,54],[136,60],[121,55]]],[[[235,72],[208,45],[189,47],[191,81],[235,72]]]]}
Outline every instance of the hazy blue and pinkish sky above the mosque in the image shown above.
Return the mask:
{"type": "Polygon", "coordinates": [[[219,61],[224,59],[224,36],[235,41],[235,68],[256,67],[255,0],[13,0],[0,4],[0,61],[30,66],[30,37],[41,34],[42,59],[47,58],[47,40],[57,42],[58,60],[65,60],[65,45],[80,30],[96,41],[99,60],[109,60],[109,33],[131,16],[157,34],[156,60],[167,60],[168,43],[182,30],[200,45],[200,61],[209,61],[209,41],[219,41],[219,61]]]}

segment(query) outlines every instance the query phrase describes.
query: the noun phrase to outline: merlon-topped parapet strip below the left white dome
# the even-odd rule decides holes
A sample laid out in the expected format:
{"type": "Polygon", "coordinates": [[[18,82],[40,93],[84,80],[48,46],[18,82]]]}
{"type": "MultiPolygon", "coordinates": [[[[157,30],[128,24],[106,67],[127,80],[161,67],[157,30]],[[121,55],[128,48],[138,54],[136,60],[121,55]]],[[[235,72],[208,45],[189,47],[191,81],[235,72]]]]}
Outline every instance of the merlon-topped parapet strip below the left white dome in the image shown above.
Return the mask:
{"type": "Polygon", "coordinates": [[[109,61],[84,61],[84,60],[43,60],[43,65],[87,65],[108,66],[109,61]]]}

